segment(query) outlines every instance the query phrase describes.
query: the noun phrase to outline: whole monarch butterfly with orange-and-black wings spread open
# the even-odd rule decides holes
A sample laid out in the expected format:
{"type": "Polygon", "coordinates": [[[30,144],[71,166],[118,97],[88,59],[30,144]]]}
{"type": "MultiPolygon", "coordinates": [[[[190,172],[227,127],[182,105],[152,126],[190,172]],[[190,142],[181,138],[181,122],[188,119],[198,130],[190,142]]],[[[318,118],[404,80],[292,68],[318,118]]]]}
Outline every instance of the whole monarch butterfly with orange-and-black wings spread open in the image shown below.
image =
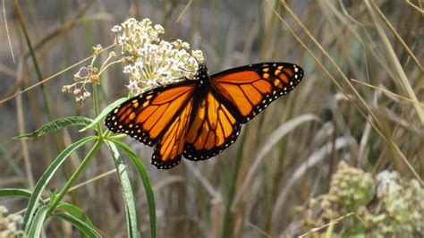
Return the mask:
{"type": "Polygon", "coordinates": [[[156,146],[151,163],[169,169],[214,157],[237,139],[243,123],[299,84],[296,64],[250,64],[209,75],[205,64],[193,79],[151,89],[106,116],[106,127],[156,146]]]}

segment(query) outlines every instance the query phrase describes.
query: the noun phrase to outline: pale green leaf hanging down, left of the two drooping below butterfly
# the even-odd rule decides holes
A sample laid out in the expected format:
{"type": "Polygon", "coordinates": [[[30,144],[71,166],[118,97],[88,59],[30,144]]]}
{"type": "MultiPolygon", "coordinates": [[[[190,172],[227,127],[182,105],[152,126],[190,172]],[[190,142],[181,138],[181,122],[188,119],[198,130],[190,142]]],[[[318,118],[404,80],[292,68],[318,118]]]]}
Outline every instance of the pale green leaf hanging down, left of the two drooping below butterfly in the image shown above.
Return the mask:
{"type": "Polygon", "coordinates": [[[114,145],[114,142],[106,140],[106,144],[112,152],[114,157],[114,165],[118,172],[119,182],[123,189],[123,201],[125,203],[125,212],[127,218],[127,232],[129,237],[138,237],[138,222],[137,222],[137,209],[134,202],[134,196],[131,189],[130,178],[128,177],[127,169],[123,164],[123,159],[119,154],[118,149],[114,145]]]}

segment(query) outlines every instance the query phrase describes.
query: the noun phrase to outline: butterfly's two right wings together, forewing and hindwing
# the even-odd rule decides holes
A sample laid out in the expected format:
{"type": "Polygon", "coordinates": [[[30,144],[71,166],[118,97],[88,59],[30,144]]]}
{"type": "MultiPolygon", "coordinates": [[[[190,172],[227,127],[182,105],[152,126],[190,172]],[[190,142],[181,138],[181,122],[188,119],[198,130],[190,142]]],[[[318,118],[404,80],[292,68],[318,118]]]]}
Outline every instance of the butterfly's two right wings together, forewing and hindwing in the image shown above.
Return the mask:
{"type": "Polygon", "coordinates": [[[193,110],[184,157],[208,159],[222,152],[242,123],[294,89],[302,76],[301,67],[286,63],[250,64],[210,76],[211,87],[193,110]]]}

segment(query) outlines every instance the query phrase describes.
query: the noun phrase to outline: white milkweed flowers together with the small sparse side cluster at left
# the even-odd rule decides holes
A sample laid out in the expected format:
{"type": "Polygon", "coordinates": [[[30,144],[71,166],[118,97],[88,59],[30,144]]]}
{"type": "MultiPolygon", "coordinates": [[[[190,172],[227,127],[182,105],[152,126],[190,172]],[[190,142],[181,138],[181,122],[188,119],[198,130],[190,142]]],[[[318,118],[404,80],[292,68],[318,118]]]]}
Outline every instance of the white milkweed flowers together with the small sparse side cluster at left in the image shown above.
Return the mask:
{"type": "Polygon", "coordinates": [[[181,39],[166,41],[161,25],[153,25],[149,19],[137,21],[133,18],[112,28],[115,43],[121,47],[122,58],[111,61],[116,54],[112,51],[98,69],[94,66],[97,55],[104,49],[94,47],[90,66],[82,67],[73,75],[74,83],[65,85],[62,91],[72,93],[78,105],[90,98],[88,84],[98,84],[99,75],[112,64],[123,63],[123,72],[129,75],[126,87],[131,96],[138,95],[161,85],[192,78],[204,62],[200,50],[192,50],[189,43],[181,39]]]}

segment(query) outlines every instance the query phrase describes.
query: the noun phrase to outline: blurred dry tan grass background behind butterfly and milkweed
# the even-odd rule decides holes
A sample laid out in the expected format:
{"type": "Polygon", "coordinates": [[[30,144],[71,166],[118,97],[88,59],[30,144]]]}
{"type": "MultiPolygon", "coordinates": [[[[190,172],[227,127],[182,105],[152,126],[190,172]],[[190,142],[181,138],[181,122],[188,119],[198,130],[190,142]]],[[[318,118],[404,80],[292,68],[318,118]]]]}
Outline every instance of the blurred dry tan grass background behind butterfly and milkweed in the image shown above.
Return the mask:
{"type": "MultiPolygon", "coordinates": [[[[294,236],[316,227],[321,228],[307,235],[371,234],[377,228],[383,231],[386,223],[390,227],[382,235],[422,236],[423,9],[419,0],[4,1],[0,188],[31,189],[52,159],[81,138],[72,129],[37,140],[12,140],[56,118],[93,117],[90,102],[77,106],[71,95],[61,92],[87,63],[72,65],[89,57],[95,45],[112,45],[114,25],[129,17],[149,18],[164,26],[167,38],[181,38],[204,50],[209,72],[264,61],[291,62],[305,71],[290,95],[244,126],[244,135],[231,148],[208,161],[184,161],[158,171],[150,166],[151,148],[125,140],[149,169],[159,237],[294,236]],[[15,94],[52,75],[42,85],[15,94]],[[343,175],[332,181],[341,161],[353,182],[340,182],[343,175]],[[397,217],[400,225],[390,223],[399,213],[377,194],[376,176],[383,170],[396,171],[396,184],[407,184],[400,196],[411,191],[422,198],[400,201],[409,204],[404,212],[422,211],[421,217],[397,217]],[[340,193],[352,188],[346,184],[355,190],[340,193]],[[340,198],[354,199],[346,205],[337,203],[340,198]],[[324,207],[316,208],[317,202],[324,207]],[[411,233],[402,233],[408,225],[411,233]]],[[[115,65],[103,73],[103,106],[126,95],[128,80],[122,70],[115,65]]],[[[84,155],[72,154],[48,184],[50,191],[64,185],[84,155]]],[[[106,148],[101,155],[91,160],[77,183],[103,174],[101,178],[73,190],[66,200],[82,208],[101,234],[123,237],[125,213],[114,160],[106,148]]],[[[140,231],[148,236],[146,196],[130,169],[140,231]]],[[[27,202],[0,200],[11,214],[19,214],[27,202]]],[[[47,221],[45,233],[81,235],[54,219],[47,221]]]]}

